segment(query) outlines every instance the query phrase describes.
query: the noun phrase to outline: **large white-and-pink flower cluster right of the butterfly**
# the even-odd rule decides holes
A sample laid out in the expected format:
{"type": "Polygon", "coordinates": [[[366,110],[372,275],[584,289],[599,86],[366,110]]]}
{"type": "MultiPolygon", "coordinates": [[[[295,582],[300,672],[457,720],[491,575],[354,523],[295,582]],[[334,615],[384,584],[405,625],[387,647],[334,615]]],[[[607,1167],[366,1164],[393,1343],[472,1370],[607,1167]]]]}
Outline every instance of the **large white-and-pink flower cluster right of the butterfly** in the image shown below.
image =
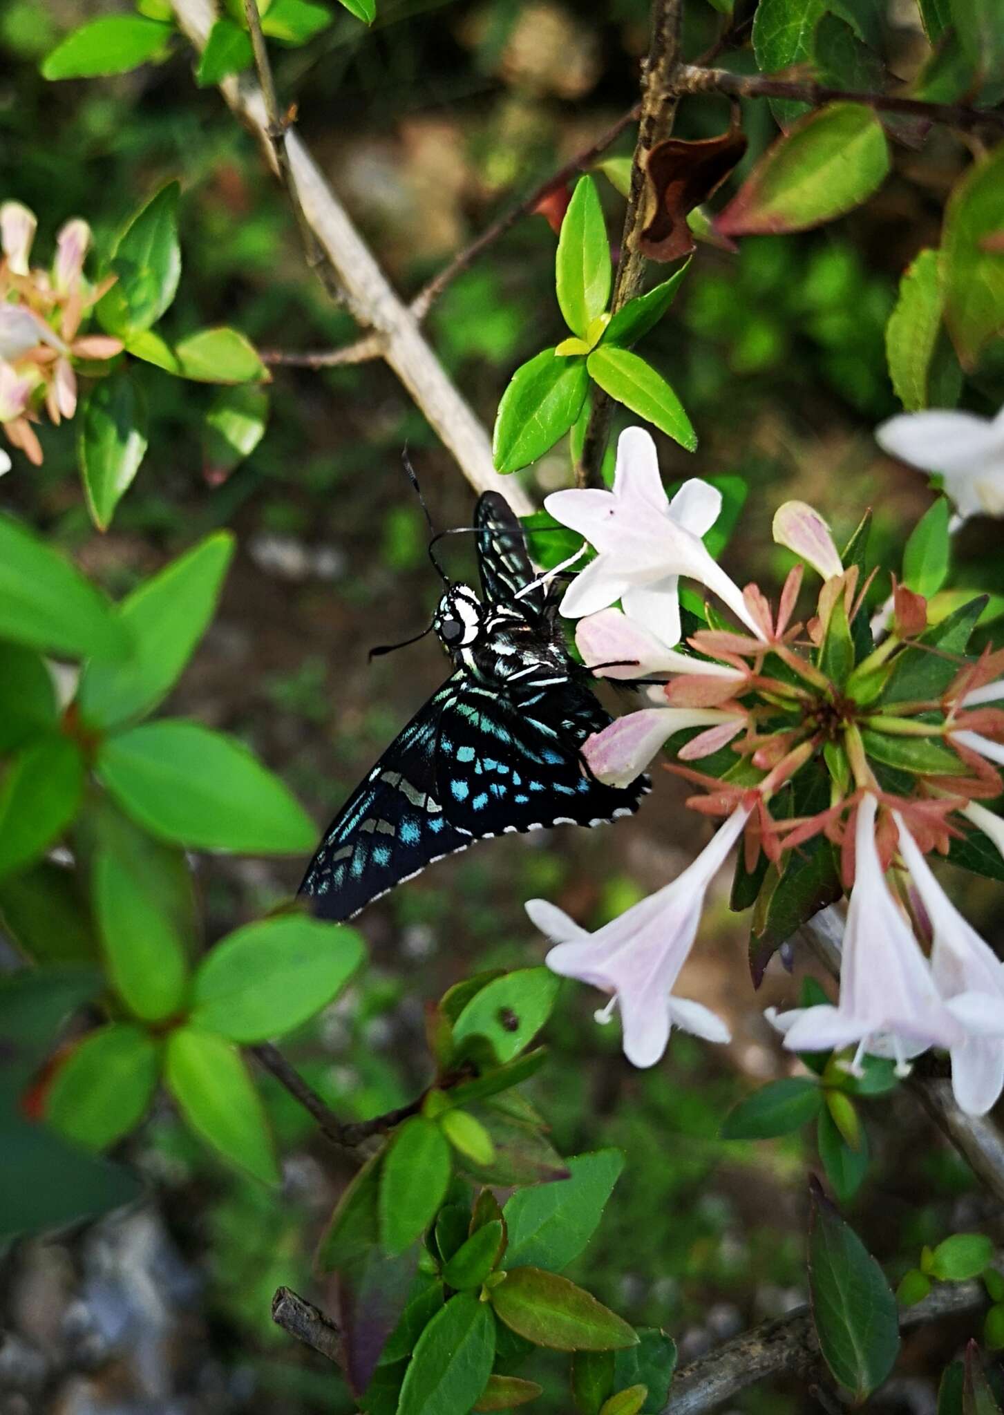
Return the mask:
{"type": "Polygon", "coordinates": [[[830,897],[850,894],[840,1000],[772,1016],[785,1044],[855,1047],[850,1068],[868,1053],[894,1057],[901,1073],[920,1051],[945,1049],[959,1104],[987,1111],[1004,1087],[1004,964],[926,859],[971,849],[974,838],[1004,855],[1004,822],[984,804],[1004,792],[1004,708],[994,706],[1004,703],[1004,652],[964,654],[983,601],[930,624],[923,597],[894,577],[888,633],[875,644],[865,536],[841,559],[823,518],[787,502],[775,539],[802,563],[775,608],[755,584],[739,590],[702,543],[718,491],[694,480],[668,501],[640,429],[620,439],[610,491],[559,491],[547,509],[598,552],[562,601],[579,621],[583,661],[644,679],[650,703],[586,743],[589,768],[626,782],[673,739],[670,770],[702,792],[687,804],[725,822],[678,879],[596,934],[531,900],[530,917],[555,941],[548,965],[610,995],[598,1017],[619,1007],[636,1065],[661,1057],[674,1023],[728,1040],[707,1007],[673,996],[705,891],[741,838],[745,879],[759,870],[768,901],[793,889],[814,852],[817,873],[831,870],[830,897]],[[803,623],[806,567],[823,583],[803,623]],[[708,603],[705,623],[684,635],[680,577],[739,625],[708,603]]]}

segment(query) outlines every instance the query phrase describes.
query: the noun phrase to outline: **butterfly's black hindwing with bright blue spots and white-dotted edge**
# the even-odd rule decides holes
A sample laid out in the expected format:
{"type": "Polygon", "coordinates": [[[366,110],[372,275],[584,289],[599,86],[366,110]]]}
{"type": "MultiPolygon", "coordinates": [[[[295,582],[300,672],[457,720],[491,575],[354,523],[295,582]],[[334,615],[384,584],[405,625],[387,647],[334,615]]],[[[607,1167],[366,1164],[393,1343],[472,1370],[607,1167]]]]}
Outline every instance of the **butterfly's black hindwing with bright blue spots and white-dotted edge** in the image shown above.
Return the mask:
{"type": "Polygon", "coordinates": [[[592,693],[574,682],[518,700],[452,679],[436,778],[450,825],[483,839],[633,814],[650,790],[647,777],[623,788],[605,785],[579,753],[609,722],[592,693]]]}

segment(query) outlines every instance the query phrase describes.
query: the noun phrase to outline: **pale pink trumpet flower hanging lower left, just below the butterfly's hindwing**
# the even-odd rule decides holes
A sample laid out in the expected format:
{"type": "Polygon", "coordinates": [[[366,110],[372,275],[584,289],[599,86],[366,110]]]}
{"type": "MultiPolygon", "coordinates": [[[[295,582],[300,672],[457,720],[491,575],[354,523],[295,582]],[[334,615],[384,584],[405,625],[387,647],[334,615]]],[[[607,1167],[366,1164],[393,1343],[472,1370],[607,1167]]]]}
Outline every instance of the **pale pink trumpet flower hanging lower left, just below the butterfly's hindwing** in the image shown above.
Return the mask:
{"type": "Polygon", "coordinates": [[[547,900],[527,901],[534,924],[557,941],[548,968],[610,993],[596,1020],[609,1022],[613,1007],[620,1010],[624,1056],[637,1067],[658,1061],[674,1024],[708,1041],[729,1040],[721,1017],[700,1002],[674,998],[673,986],[694,944],[708,884],[748,816],[749,808],[738,807],[683,874],[595,934],[547,900]]]}

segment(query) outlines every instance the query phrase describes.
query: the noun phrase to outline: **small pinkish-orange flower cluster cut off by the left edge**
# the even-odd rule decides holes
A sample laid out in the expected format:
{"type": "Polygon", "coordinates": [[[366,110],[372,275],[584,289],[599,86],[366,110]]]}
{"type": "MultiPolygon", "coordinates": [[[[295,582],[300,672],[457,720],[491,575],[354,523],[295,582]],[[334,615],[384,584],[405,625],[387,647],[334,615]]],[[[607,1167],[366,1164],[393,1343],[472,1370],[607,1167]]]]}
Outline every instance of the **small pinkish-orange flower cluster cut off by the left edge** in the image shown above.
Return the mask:
{"type": "MultiPolygon", "coordinates": [[[[76,412],[76,374],[81,359],[109,359],[122,341],[105,334],[81,334],[88,311],[115,277],[92,286],[84,275],[91,243],[86,221],[75,218],[59,231],[51,270],[28,265],[35,218],[17,201],[0,205],[0,426],[7,441],[38,466],[42,450],[31,426],[38,409],[58,423],[76,412]]],[[[10,458],[0,451],[0,471],[10,458]]]]}

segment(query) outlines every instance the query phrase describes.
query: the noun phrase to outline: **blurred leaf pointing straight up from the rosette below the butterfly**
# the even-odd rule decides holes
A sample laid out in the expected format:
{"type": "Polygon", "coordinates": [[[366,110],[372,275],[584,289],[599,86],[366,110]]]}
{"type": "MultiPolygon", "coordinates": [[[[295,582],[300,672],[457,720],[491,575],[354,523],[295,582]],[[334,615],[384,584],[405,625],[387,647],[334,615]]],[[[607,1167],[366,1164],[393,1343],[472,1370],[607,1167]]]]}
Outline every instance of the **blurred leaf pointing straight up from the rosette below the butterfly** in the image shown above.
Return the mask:
{"type": "Polygon", "coordinates": [[[186,999],[188,964],[171,920],[112,850],[93,862],[92,891],[112,986],[144,1022],[173,1016],[186,999]]]}

